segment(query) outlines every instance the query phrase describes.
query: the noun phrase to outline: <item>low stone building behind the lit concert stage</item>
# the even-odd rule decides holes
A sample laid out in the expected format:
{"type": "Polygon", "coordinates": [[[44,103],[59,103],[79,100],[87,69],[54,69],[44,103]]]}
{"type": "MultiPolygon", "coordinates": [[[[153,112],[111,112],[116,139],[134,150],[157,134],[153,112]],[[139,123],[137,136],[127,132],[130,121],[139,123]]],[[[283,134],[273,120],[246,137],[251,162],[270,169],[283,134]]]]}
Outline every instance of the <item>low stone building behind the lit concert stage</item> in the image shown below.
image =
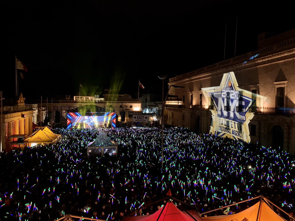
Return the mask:
{"type": "Polygon", "coordinates": [[[103,98],[74,96],[71,99],[67,96],[67,99],[60,97],[28,100],[27,103],[33,105],[34,119],[37,120],[35,123],[43,125],[47,121],[45,124],[48,123],[52,128],[66,128],[67,115],[70,112],[79,112],[82,115],[90,112],[114,112],[118,115],[118,121],[125,124],[132,123],[133,114],[142,113],[141,102],[131,98],[129,94],[104,94],[103,98]]]}

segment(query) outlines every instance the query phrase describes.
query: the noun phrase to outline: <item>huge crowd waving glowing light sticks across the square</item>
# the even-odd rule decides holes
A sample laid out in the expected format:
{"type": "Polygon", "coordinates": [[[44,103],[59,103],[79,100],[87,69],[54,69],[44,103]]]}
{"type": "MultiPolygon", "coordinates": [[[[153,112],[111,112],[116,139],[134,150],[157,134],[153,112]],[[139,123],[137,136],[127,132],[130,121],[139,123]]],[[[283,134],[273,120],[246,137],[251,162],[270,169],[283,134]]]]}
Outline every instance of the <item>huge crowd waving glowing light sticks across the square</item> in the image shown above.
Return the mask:
{"type": "MultiPolygon", "coordinates": [[[[122,220],[153,214],[169,189],[199,214],[259,195],[295,210],[295,160],[282,149],[164,127],[161,159],[160,129],[124,127],[104,128],[118,152],[101,157],[86,150],[102,128],[57,130],[62,136],[53,144],[1,153],[3,220],[52,221],[67,214],[122,220]]],[[[236,213],[255,202],[207,215],[236,213]]]]}

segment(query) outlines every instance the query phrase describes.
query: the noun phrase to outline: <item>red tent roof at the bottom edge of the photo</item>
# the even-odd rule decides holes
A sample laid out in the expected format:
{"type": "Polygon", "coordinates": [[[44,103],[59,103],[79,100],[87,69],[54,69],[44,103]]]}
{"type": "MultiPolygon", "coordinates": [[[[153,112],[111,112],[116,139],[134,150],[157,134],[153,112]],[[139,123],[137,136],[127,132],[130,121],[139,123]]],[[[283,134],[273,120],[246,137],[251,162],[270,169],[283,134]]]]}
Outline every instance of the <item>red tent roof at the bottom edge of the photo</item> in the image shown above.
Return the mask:
{"type": "Polygon", "coordinates": [[[124,217],[124,221],[202,221],[199,216],[193,216],[192,218],[186,212],[182,212],[179,210],[176,205],[168,200],[167,203],[157,212],[152,215],[144,215],[144,216],[134,216],[134,217],[124,217]],[[162,211],[162,212],[161,212],[162,211]]]}

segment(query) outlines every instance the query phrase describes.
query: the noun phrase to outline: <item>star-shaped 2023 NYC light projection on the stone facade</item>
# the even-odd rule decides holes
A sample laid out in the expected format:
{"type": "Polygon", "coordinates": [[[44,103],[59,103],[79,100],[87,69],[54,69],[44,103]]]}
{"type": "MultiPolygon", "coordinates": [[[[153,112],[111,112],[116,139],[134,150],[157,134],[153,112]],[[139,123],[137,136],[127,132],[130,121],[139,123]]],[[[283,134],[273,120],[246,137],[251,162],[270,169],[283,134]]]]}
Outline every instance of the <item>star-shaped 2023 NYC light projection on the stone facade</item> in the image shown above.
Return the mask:
{"type": "Polygon", "coordinates": [[[212,112],[210,133],[250,142],[248,124],[254,113],[249,108],[260,106],[263,97],[240,89],[234,72],[223,74],[220,86],[202,88],[202,92],[212,112]]]}

